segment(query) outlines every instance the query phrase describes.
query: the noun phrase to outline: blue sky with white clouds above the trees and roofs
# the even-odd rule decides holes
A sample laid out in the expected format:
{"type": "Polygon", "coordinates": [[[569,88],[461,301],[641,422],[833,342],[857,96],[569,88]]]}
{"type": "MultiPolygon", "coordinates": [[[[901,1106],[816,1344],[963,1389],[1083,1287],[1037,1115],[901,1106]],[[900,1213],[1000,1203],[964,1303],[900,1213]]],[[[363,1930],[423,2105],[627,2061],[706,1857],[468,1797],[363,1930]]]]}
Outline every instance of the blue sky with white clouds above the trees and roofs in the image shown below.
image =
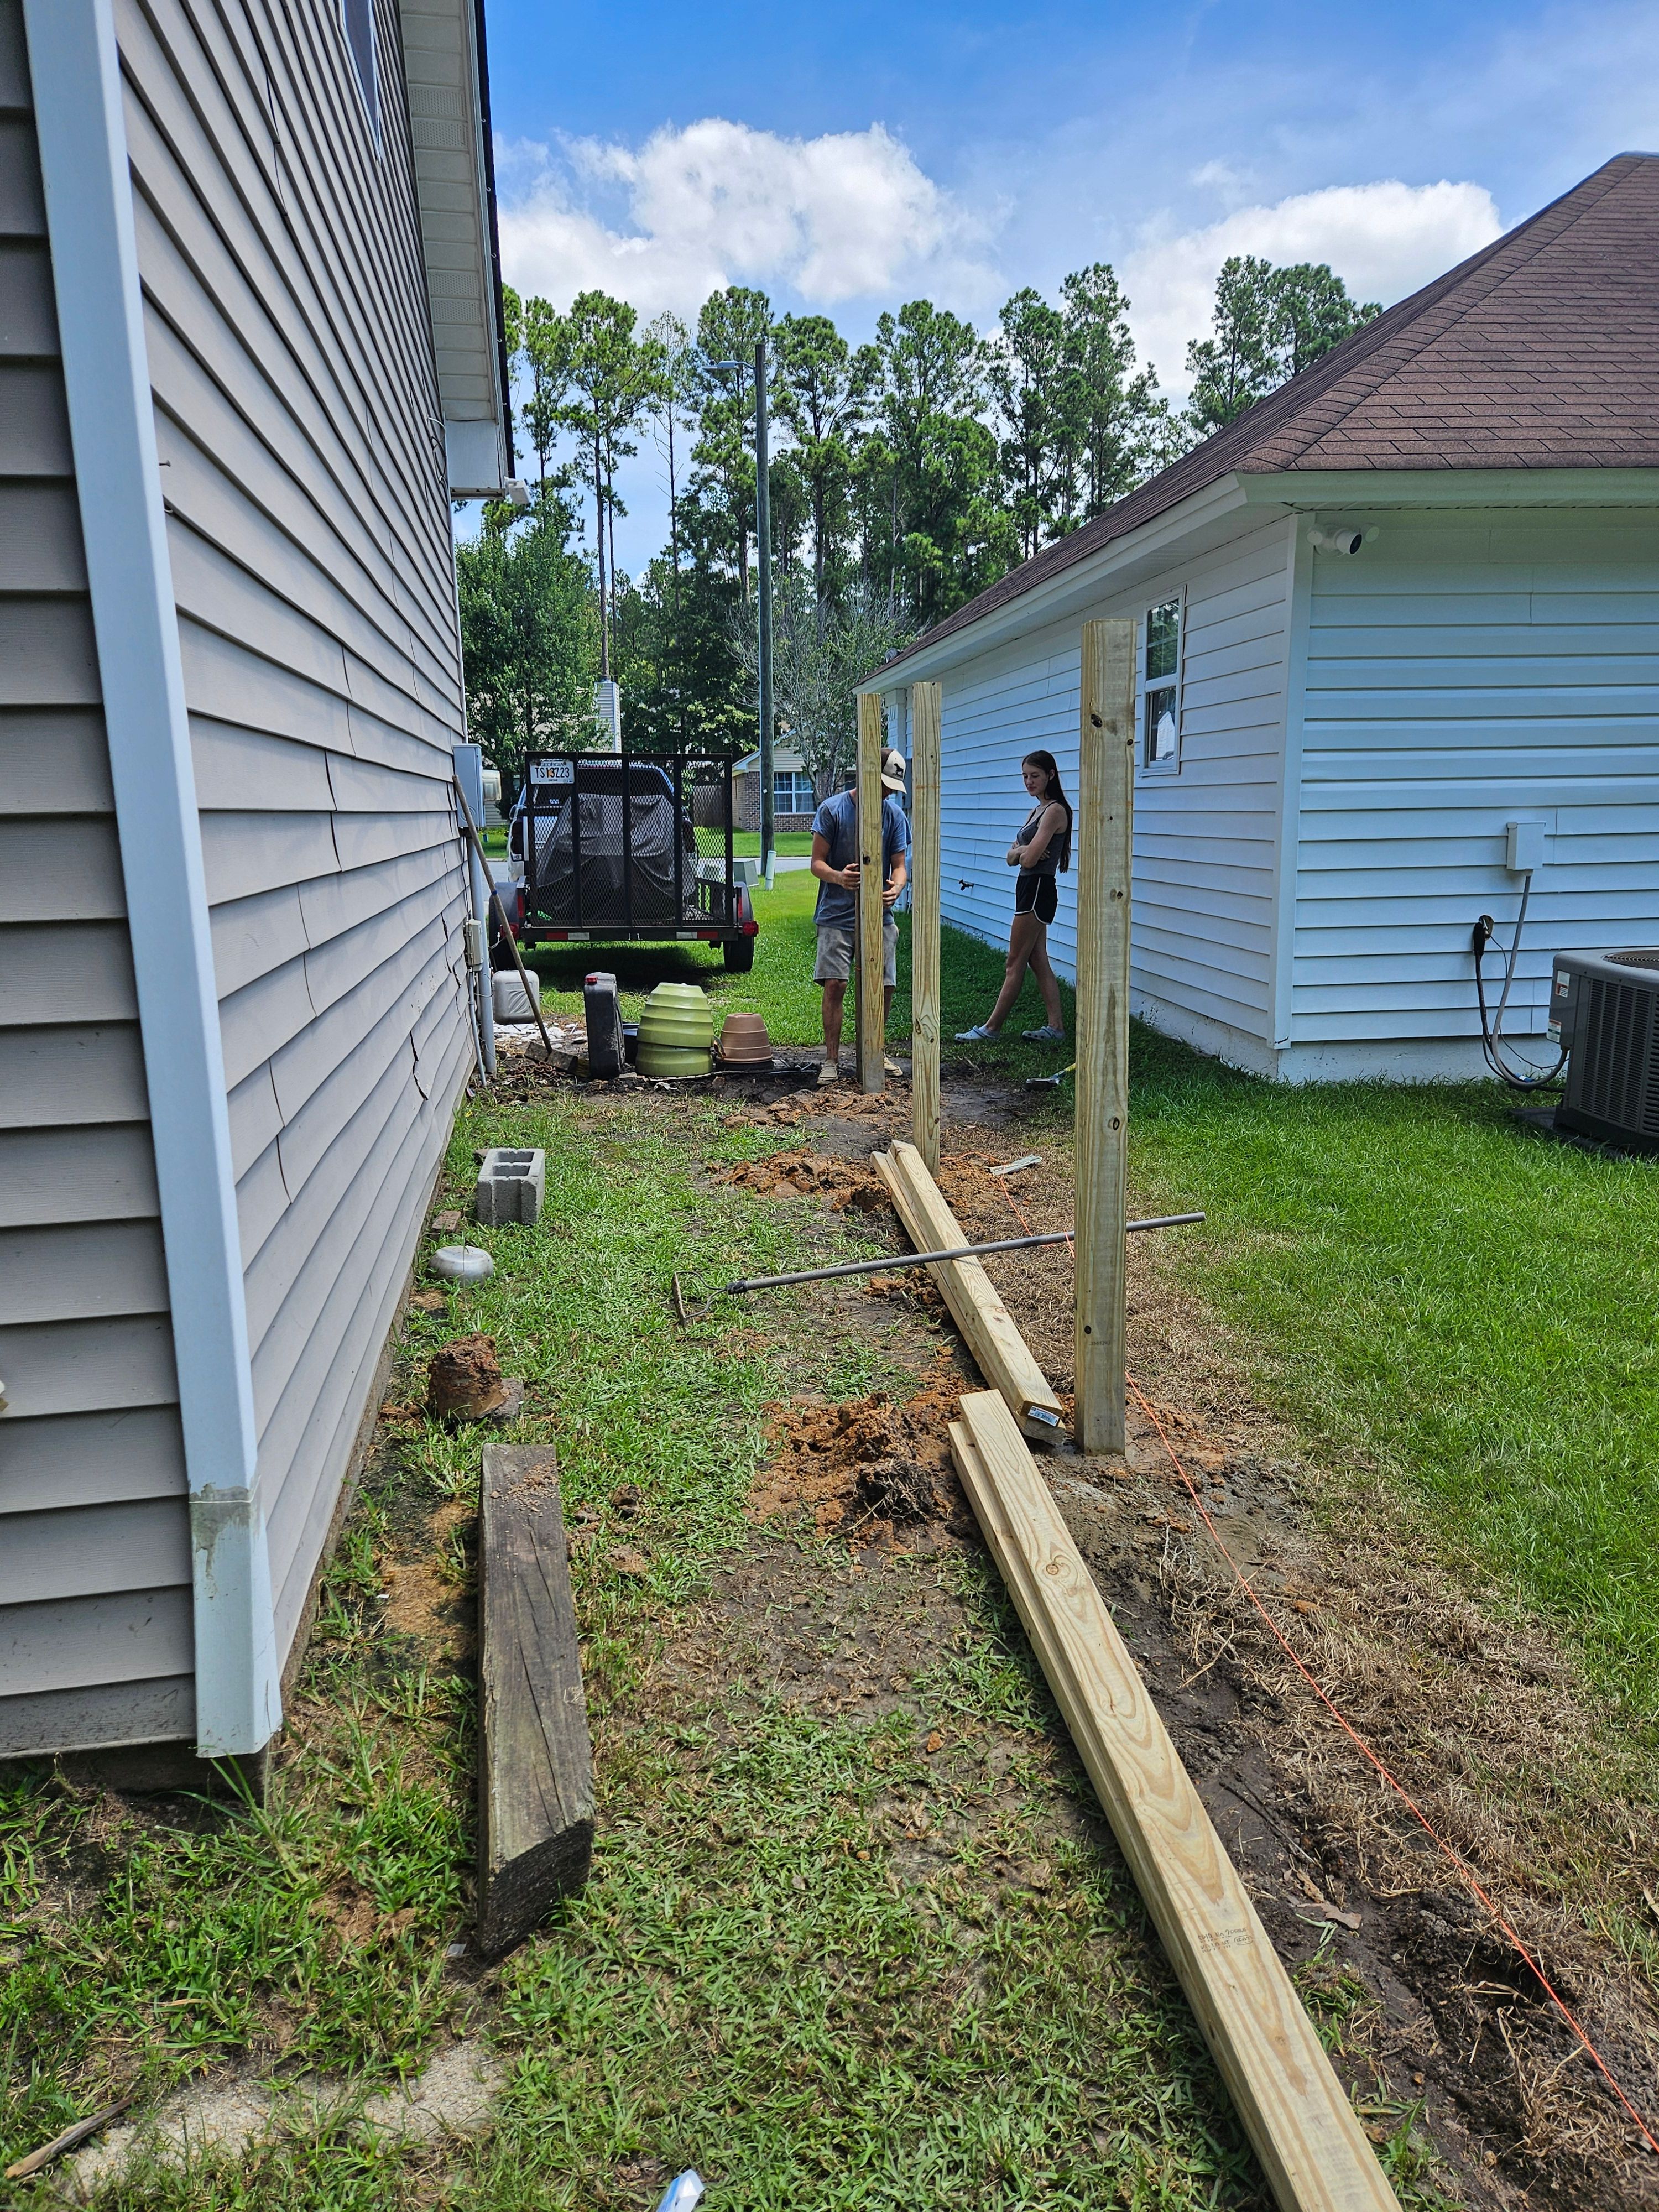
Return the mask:
{"type": "MultiPolygon", "coordinates": [[[[487,11],[520,288],[695,314],[759,283],[863,336],[918,294],[991,323],[1106,259],[1177,394],[1228,252],[1329,259],[1387,303],[1659,148],[1650,0],[487,11]]],[[[635,566],[661,542],[648,451],[628,491],[635,566]]]]}

